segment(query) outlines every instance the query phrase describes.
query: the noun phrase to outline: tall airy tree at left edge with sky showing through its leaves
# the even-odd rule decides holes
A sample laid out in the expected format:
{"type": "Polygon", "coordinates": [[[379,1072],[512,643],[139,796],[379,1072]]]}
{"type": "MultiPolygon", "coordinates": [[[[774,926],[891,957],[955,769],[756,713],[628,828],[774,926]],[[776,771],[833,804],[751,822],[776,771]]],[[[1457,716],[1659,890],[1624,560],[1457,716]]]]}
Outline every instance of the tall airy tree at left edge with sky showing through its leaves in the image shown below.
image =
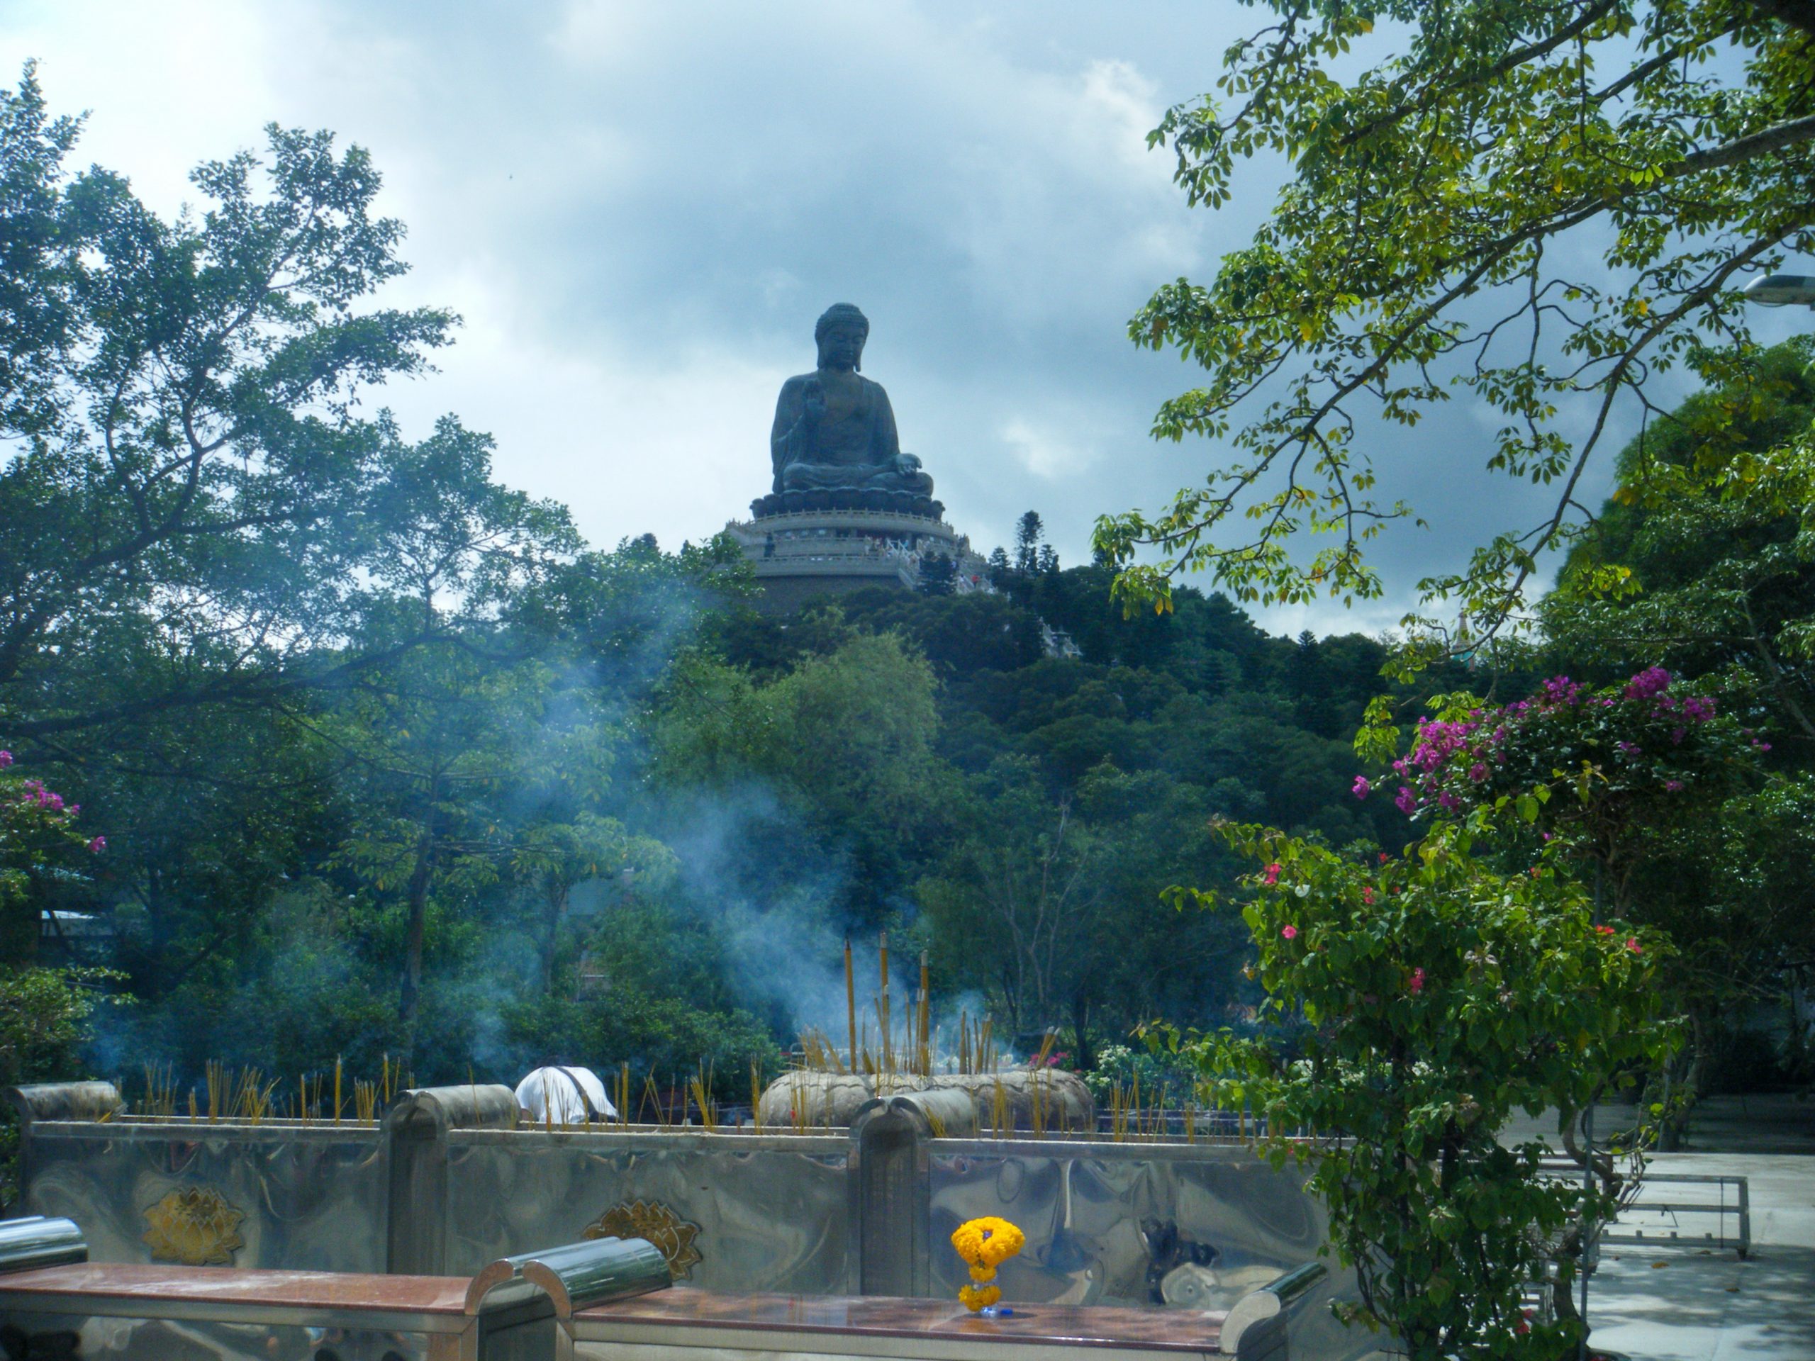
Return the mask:
{"type": "Polygon", "coordinates": [[[47,737],[269,699],[348,626],[356,510],[392,441],[361,392],[419,372],[452,316],[374,308],[403,272],[379,176],[327,132],[269,129],[163,221],[102,169],[64,180],[74,125],[27,71],[0,107],[13,194],[0,290],[0,722],[47,737]],[[120,684],[122,639],[207,661],[120,684]]]}

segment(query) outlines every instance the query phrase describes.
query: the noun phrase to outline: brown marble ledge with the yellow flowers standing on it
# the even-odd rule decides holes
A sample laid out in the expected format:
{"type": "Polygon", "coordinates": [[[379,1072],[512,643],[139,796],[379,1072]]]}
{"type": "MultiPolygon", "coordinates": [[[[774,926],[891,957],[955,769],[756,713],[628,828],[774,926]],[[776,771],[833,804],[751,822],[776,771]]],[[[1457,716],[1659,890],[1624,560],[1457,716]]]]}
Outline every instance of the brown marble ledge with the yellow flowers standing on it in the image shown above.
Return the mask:
{"type": "Polygon", "coordinates": [[[893,1296],[728,1296],[673,1287],[575,1314],[592,1325],[690,1325],[768,1332],[842,1332],[875,1337],[998,1337],[1055,1346],[1140,1346],[1214,1352],[1225,1314],[1100,1305],[1018,1305],[1006,1319],[971,1314],[958,1301],[893,1296]]]}

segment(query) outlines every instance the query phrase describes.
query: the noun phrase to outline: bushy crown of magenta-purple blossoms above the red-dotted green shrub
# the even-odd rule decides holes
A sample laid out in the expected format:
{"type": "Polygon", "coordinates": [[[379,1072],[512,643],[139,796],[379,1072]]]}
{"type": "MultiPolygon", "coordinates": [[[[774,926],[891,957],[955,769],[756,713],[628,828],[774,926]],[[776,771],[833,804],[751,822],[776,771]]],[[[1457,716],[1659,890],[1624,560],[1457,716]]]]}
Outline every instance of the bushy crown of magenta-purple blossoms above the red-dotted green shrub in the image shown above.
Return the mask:
{"type": "MultiPolygon", "coordinates": [[[[1552,677],[1530,699],[1421,719],[1394,806],[1412,818],[1512,804],[1543,829],[1568,826],[1608,858],[1634,815],[1693,788],[1726,784],[1770,744],[1722,715],[1708,695],[1672,690],[1661,666],[1624,686],[1590,690],[1552,677]],[[1572,789],[1575,798],[1552,800],[1572,789]]],[[[1365,780],[1356,778],[1365,797],[1365,780]]]]}

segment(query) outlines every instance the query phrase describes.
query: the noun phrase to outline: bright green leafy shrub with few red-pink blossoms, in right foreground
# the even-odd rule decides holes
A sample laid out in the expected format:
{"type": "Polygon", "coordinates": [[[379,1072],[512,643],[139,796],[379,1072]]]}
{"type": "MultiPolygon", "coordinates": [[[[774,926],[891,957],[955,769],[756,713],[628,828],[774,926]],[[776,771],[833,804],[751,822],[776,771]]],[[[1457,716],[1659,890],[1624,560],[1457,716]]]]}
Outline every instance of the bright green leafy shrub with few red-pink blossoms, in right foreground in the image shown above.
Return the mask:
{"type": "Polygon", "coordinates": [[[1312,1131],[1263,1147],[1309,1161],[1358,1270],[1354,1317],[1425,1361],[1574,1356],[1577,1325],[1528,1325],[1521,1296],[1550,1263],[1568,1290],[1584,1192],[1539,1176],[1541,1145],[1497,1132],[1519,1109],[1574,1114],[1675,1043],[1655,985],[1664,947],[1597,927],[1555,844],[1535,873],[1492,873],[1470,855],[1490,817],[1439,822],[1405,858],[1369,864],[1225,827],[1265,866],[1241,916],[1265,1014],[1303,1027],[1298,1056],[1227,1031],[1172,1036],[1218,1103],[1312,1131]]]}

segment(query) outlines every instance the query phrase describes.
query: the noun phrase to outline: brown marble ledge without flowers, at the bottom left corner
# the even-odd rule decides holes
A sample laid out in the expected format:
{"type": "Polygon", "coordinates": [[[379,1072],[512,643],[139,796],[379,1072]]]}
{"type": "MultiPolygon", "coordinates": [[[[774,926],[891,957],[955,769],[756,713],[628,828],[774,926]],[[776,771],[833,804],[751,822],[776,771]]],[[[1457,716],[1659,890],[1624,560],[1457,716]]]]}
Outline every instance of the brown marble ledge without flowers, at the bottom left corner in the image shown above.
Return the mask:
{"type": "Polygon", "coordinates": [[[0,1276],[0,1307],[9,1294],[69,1301],[152,1296],[201,1305],[303,1307],[334,1310],[388,1310],[410,1314],[465,1314],[465,1276],[358,1276],[352,1272],[240,1270],[229,1267],[156,1267],[138,1263],[78,1263],[38,1267],[0,1276]]]}

